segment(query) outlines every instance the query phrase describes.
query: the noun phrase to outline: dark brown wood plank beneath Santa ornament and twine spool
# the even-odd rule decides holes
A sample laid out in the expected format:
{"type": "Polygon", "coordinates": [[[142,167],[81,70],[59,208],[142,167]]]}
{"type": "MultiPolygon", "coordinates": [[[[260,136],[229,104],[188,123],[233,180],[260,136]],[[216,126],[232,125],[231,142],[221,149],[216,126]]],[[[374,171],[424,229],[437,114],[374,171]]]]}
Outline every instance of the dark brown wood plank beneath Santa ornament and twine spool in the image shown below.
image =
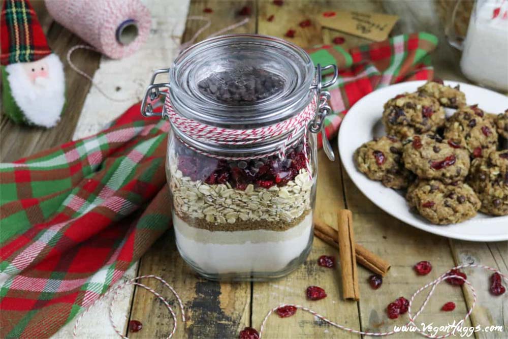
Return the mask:
{"type": "MultiPolygon", "coordinates": [[[[50,21],[44,3],[42,1],[35,2],[34,5],[40,11],[38,13],[41,13],[41,22],[47,26],[50,21]]],[[[2,144],[0,159],[2,161],[13,161],[29,156],[39,150],[56,146],[71,140],[74,134],[90,84],[84,82],[83,78],[67,65],[65,56],[69,48],[82,44],[83,41],[56,22],[51,23],[49,26],[47,40],[53,52],[60,57],[64,64],[67,86],[65,112],[62,114],[59,124],[49,130],[16,125],[8,120],[5,115],[2,115],[2,133],[0,135],[0,143],[2,144]]],[[[98,53],[82,51],[74,57],[74,62],[84,72],[93,75],[99,67],[99,59],[100,55],[98,53]]]]}

